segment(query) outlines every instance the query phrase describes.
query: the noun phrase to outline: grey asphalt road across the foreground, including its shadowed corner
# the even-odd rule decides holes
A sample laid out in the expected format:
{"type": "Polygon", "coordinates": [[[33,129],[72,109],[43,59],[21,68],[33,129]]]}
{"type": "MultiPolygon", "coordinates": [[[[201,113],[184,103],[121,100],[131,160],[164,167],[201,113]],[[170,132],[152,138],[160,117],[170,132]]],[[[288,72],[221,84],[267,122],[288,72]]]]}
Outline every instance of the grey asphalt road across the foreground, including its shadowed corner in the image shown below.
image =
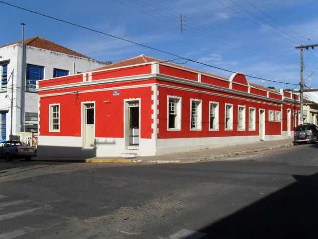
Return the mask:
{"type": "Polygon", "coordinates": [[[316,238],[318,145],[195,164],[0,162],[0,239],[316,238]]]}

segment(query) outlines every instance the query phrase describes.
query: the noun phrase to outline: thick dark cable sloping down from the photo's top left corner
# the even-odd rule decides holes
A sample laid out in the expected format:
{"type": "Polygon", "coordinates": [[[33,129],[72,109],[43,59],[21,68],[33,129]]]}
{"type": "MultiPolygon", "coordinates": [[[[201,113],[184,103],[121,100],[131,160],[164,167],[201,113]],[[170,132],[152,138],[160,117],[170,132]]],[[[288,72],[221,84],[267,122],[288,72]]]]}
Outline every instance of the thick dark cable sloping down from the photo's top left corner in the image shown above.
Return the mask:
{"type": "MultiPolygon", "coordinates": [[[[225,72],[237,73],[237,72],[234,72],[234,71],[227,70],[225,68],[212,66],[212,65],[209,65],[209,64],[206,64],[206,63],[203,63],[203,62],[199,62],[199,61],[192,60],[192,59],[189,59],[189,58],[186,58],[186,57],[182,57],[182,56],[179,56],[177,54],[174,54],[174,53],[171,53],[171,52],[168,52],[168,51],[165,51],[165,50],[161,50],[159,48],[150,47],[150,46],[147,46],[147,45],[144,45],[144,44],[141,44],[141,43],[137,43],[135,41],[131,41],[131,40],[128,40],[128,39],[125,39],[125,38],[122,38],[122,37],[118,37],[118,36],[106,33],[106,32],[95,30],[95,29],[92,29],[90,27],[86,27],[86,26],[83,26],[83,25],[80,25],[80,24],[75,24],[75,23],[72,23],[72,22],[69,22],[69,21],[66,21],[66,20],[63,20],[63,19],[52,17],[52,16],[49,16],[49,15],[46,15],[46,14],[43,14],[43,13],[40,13],[40,12],[36,12],[36,11],[30,10],[30,9],[27,9],[27,8],[23,8],[23,7],[20,7],[20,6],[11,4],[11,3],[7,3],[7,2],[1,1],[1,0],[0,0],[0,3],[3,3],[3,4],[6,4],[6,5],[9,5],[9,6],[18,8],[18,9],[21,9],[21,10],[24,10],[24,11],[27,11],[27,12],[31,12],[31,13],[34,13],[34,14],[49,18],[49,19],[53,19],[53,20],[56,20],[56,21],[59,21],[59,22],[62,22],[62,23],[70,24],[70,25],[73,25],[73,26],[77,26],[79,28],[83,28],[83,29],[92,31],[92,32],[100,33],[100,34],[103,34],[103,35],[106,35],[106,36],[109,36],[109,37],[113,37],[115,39],[119,39],[119,40],[122,40],[122,41],[125,41],[125,42],[129,42],[129,43],[135,44],[135,45],[140,46],[140,47],[144,47],[144,48],[148,48],[148,49],[159,51],[161,53],[172,55],[172,56],[178,57],[178,59],[184,59],[184,60],[187,60],[187,61],[191,61],[191,62],[194,62],[194,63],[197,63],[197,64],[201,64],[201,65],[208,66],[208,67],[211,67],[211,68],[214,68],[214,69],[218,69],[218,70],[222,70],[222,71],[225,71],[225,72]]],[[[245,75],[250,77],[250,78],[259,79],[259,80],[265,80],[265,81],[281,83],[281,84],[288,84],[288,85],[297,85],[295,83],[286,83],[286,82],[276,81],[276,80],[272,80],[272,79],[265,79],[265,78],[261,78],[261,77],[257,77],[257,76],[248,75],[248,74],[245,74],[245,75]]]]}

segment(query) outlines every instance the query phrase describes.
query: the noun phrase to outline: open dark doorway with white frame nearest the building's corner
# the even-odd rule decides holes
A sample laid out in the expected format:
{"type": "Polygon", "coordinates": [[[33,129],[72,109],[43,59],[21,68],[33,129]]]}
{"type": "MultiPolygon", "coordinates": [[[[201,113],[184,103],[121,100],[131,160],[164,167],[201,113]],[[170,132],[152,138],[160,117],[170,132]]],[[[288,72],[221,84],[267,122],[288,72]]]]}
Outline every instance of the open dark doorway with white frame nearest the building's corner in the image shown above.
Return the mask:
{"type": "Polygon", "coordinates": [[[140,135],[140,111],[139,101],[126,102],[126,148],[139,149],[139,135],[140,135]]]}

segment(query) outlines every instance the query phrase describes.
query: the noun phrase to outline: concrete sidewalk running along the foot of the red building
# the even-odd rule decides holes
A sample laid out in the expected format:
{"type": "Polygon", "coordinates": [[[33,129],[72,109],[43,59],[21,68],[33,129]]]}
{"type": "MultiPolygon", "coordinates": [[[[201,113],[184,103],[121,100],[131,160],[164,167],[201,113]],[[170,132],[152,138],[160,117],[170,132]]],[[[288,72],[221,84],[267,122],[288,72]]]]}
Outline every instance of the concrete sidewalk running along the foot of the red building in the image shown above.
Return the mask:
{"type": "Polygon", "coordinates": [[[144,156],[136,158],[121,157],[33,157],[32,161],[43,162],[78,162],[78,163],[194,163],[209,161],[225,157],[243,155],[252,152],[266,151],[276,148],[290,147],[293,145],[292,139],[263,141],[256,143],[246,143],[230,145],[225,147],[193,150],[188,152],[165,154],[159,156],[144,156]]]}

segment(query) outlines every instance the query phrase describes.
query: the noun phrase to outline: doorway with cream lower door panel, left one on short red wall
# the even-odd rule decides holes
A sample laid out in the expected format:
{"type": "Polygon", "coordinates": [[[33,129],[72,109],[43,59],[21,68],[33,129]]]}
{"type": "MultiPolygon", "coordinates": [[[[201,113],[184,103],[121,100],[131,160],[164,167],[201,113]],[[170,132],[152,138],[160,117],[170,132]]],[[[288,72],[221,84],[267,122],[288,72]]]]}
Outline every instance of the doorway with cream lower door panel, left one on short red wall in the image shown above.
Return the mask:
{"type": "Polygon", "coordinates": [[[95,108],[94,103],[83,104],[83,146],[94,147],[95,140],[95,108]]]}

